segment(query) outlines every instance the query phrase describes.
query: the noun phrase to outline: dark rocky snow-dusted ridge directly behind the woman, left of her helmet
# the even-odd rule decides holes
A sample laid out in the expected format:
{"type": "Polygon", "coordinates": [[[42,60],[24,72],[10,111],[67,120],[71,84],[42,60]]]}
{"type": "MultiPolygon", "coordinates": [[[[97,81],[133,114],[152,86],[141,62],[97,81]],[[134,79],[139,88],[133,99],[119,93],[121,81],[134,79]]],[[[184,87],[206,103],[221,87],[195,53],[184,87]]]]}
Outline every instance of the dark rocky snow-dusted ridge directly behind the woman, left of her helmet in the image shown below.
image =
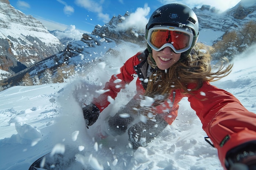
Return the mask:
{"type": "MultiPolygon", "coordinates": [[[[58,79],[57,77],[63,76],[63,69],[65,69],[67,72],[84,71],[88,63],[92,61],[95,62],[95,60],[100,62],[101,58],[105,55],[117,55],[117,53],[120,53],[120,51],[115,50],[115,48],[117,48],[117,44],[120,45],[122,42],[126,42],[126,45],[129,46],[137,46],[137,44],[141,44],[140,50],[144,49],[144,33],[138,33],[135,29],[128,31],[124,29],[116,29],[118,23],[125,20],[125,18],[128,16],[128,13],[126,13],[125,16],[119,15],[118,17],[113,17],[112,20],[110,20],[110,22],[105,26],[95,26],[92,34],[83,33],[80,40],[71,40],[69,37],[67,37],[65,41],[71,42],[67,44],[65,50],[58,54],[47,57],[46,59],[37,62],[28,68],[25,68],[8,79],[4,79],[2,88],[5,89],[10,86],[20,85],[22,78],[27,73],[29,73],[31,77],[37,76],[39,79],[41,79],[45,77],[46,69],[49,69],[52,74],[52,77],[49,79],[58,79]],[[95,31],[97,29],[99,31],[95,31]],[[106,31],[106,29],[109,31],[106,31]],[[117,36],[113,38],[113,35],[117,36]]],[[[53,31],[53,33],[57,36],[60,35],[60,33],[64,33],[64,31],[53,31]]],[[[62,40],[64,42],[64,39],[62,40]]],[[[134,51],[134,54],[136,52],[137,51],[134,51]]],[[[55,82],[60,81],[56,80],[55,82]]],[[[36,82],[33,83],[37,84],[36,82]]]]}

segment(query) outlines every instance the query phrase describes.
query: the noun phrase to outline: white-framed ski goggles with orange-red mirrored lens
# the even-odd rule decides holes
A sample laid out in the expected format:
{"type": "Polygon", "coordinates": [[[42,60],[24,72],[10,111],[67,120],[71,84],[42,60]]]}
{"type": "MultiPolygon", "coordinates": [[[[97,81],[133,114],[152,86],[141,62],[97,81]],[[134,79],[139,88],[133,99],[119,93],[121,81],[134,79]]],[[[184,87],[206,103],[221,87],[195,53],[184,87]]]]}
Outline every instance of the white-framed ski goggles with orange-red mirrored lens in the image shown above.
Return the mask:
{"type": "Polygon", "coordinates": [[[189,29],[176,26],[155,26],[148,30],[148,45],[155,51],[171,47],[175,53],[183,53],[190,49],[193,33],[189,29]]]}

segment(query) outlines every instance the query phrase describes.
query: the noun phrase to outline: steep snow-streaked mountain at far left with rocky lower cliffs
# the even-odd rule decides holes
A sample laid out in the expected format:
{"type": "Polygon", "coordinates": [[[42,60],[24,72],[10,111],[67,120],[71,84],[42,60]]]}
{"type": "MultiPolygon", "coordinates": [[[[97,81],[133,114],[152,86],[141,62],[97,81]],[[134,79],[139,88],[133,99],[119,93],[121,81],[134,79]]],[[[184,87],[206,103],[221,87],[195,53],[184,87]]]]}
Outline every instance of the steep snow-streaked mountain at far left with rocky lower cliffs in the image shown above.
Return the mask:
{"type": "Polygon", "coordinates": [[[31,15],[0,0],[0,69],[18,73],[64,49],[61,42],[31,15]]]}

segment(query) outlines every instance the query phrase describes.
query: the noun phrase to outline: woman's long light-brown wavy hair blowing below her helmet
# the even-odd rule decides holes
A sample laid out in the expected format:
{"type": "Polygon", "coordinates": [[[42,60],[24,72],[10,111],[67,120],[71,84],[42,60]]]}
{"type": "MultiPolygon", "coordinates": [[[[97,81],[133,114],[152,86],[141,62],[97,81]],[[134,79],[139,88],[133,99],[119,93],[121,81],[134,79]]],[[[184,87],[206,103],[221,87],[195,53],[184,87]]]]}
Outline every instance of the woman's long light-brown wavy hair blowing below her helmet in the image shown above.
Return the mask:
{"type": "Polygon", "coordinates": [[[149,78],[144,95],[153,98],[162,95],[166,99],[173,90],[181,89],[183,93],[191,93],[201,88],[205,81],[213,82],[227,76],[233,64],[228,64],[227,59],[223,59],[217,65],[211,65],[213,52],[212,46],[196,43],[186,58],[168,70],[155,71],[149,78]],[[194,84],[195,88],[188,89],[189,84],[194,84]]]}

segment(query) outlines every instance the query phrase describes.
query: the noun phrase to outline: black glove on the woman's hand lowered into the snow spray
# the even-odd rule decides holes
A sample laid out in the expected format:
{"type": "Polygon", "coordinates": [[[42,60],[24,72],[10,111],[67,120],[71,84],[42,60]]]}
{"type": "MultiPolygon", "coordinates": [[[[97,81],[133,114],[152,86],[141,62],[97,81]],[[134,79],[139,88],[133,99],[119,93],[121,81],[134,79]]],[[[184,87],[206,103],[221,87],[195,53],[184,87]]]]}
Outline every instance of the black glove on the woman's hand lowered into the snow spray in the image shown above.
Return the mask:
{"type": "Polygon", "coordinates": [[[99,117],[99,108],[94,104],[89,104],[83,108],[83,118],[88,121],[86,127],[92,126],[99,117]]]}

